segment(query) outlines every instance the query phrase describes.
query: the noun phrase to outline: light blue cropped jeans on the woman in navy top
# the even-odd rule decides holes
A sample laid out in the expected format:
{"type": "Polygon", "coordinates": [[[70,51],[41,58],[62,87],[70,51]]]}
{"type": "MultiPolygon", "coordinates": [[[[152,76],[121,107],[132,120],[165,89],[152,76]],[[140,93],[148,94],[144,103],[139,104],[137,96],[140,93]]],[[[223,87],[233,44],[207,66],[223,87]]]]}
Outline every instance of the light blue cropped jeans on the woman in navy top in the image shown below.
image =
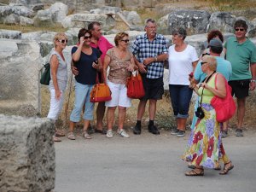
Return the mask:
{"type": "Polygon", "coordinates": [[[90,102],[90,91],[94,84],[79,84],[75,81],[75,102],[72,113],[70,114],[70,120],[77,123],[80,120],[80,114],[84,108],[84,120],[93,119],[94,103],[90,102]]]}

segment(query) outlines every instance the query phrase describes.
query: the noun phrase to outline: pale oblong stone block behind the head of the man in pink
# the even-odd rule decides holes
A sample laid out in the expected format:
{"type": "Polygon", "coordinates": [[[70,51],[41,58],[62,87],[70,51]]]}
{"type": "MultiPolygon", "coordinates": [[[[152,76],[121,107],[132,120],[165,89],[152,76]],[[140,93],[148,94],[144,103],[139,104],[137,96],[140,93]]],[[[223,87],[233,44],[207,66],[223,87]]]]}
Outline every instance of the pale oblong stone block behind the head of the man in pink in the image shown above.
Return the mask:
{"type": "Polygon", "coordinates": [[[90,22],[97,20],[102,25],[102,30],[108,31],[115,26],[115,20],[108,15],[96,14],[74,14],[68,15],[63,21],[62,26],[65,28],[83,28],[89,25],[90,22]]]}

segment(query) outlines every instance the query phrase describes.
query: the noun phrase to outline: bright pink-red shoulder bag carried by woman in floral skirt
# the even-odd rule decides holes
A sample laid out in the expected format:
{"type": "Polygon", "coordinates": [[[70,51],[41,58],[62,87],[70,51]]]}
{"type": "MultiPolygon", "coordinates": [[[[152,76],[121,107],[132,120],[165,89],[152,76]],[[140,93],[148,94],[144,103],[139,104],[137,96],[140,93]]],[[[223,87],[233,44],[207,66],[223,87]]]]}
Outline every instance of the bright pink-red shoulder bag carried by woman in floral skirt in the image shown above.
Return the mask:
{"type": "MultiPolygon", "coordinates": [[[[216,74],[215,77],[215,89],[216,87],[216,80],[217,80],[218,74],[216,74]]],[[[218,122],[225,122],[236,112],[236,103],[233,100],[233,97],[231,96],[232,88],[228,84],[227,80],[225,79],[225,85],[226,85],[226,96],[224,98],[220,98],[218,96],[214,96],[211,101],[212,107],[216,111],[216,119],[218,122]]]]}

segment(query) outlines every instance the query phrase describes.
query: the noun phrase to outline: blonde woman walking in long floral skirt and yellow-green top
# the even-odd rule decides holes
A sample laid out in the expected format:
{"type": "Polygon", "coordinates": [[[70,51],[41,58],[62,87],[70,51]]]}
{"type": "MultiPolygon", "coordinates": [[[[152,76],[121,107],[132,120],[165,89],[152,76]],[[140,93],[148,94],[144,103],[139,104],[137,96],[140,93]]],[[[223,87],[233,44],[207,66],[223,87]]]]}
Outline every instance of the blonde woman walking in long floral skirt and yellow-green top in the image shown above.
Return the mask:
{"type": "Polygon", "coordinates": [[[198,119],[195,130],[191,131],[188,146],[183,154],[183,160],[189,161],[195,167],[186,172],[186,176],[203,176],[204,167],[214,169],[219,166],[220,160],[224,162],[224,169],[219,174],[225,175],[234,167],[225,154],[221,141],[220,124],[216,120],[215,109],[210,104],[213,96],[221,98],[226,96],[224,76],[215,72],[216,67],[216,59],[213,56],[204,56],[201,61],[201,69],[202,72],[207,73],[207,78],[199,87],[191,82],[191,87],[199,96],[202,96],[201,108],[204,117],[198,119]],[[216,79],[217,76],[218,79],[216,79]]]}

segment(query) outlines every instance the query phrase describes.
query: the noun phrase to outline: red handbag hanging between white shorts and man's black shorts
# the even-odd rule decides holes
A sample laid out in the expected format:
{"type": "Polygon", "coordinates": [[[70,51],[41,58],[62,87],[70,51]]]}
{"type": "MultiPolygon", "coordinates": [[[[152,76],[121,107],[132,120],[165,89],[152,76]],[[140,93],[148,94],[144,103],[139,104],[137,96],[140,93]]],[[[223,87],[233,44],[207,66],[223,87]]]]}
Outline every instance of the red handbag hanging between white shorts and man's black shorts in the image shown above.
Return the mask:
{"type": "Polygon", "coordinates": [[[127,96],[131,99],[139,99],[145,96],[143,87],[143,79],[140,73],[136,72],[135,75],[131,74],[126,81],[127,96]]]}

